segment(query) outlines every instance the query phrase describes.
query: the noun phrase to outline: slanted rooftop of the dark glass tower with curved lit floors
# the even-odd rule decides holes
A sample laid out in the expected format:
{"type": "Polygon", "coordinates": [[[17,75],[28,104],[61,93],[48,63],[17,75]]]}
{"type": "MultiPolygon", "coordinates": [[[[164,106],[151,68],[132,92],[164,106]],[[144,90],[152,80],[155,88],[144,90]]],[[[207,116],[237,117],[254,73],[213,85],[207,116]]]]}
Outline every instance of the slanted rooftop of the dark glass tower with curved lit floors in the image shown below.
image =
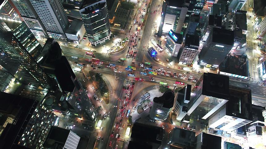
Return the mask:
{"type": "Polygon", "coordinates": [[[96,10],[102,9],[106,4],[106,0],[92,0],[89,3],[84,4],[79,12],[81,14],[89,14],[96,10]]]}

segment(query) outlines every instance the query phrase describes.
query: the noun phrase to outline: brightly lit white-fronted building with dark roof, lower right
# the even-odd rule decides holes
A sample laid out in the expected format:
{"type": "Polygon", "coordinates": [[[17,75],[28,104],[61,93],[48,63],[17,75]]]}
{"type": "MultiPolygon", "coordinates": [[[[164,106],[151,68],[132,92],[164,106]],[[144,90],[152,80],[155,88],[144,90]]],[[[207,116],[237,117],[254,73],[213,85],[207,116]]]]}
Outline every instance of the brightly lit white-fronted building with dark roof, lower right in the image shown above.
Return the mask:
{"type": "Polygon", "coordinates": [[[230,99],[208,118],[210,128],[233,131],[252,122],[251,90],[229,88],[230,99]]]}

